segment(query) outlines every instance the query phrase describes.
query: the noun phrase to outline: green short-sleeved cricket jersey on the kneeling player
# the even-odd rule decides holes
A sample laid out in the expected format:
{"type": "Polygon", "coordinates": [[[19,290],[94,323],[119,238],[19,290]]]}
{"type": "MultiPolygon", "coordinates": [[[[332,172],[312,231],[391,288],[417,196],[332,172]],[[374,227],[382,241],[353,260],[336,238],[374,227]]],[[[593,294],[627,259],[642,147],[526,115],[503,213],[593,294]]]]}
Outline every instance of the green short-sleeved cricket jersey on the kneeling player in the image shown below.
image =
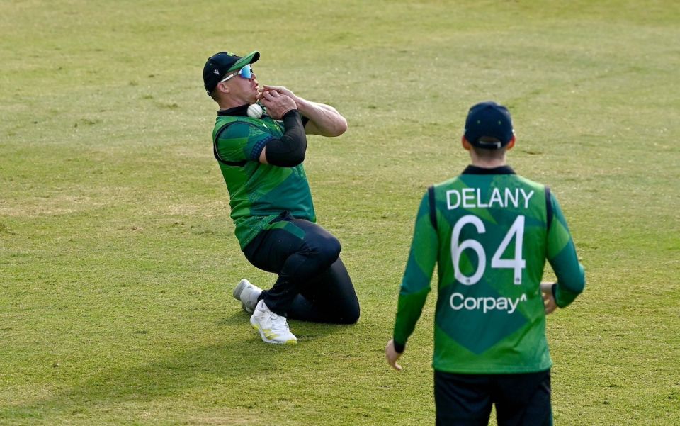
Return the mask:
{"type": "Polygon", "coordinates": [[[212,140],[229,191],[235,234],[243,250],[283,211],[316,222],[312,193],[302,164],[278,167],[259,162],[266,143],[283,136],[283,122],[246,116],[246,108],[220,111],[212,140]]]}

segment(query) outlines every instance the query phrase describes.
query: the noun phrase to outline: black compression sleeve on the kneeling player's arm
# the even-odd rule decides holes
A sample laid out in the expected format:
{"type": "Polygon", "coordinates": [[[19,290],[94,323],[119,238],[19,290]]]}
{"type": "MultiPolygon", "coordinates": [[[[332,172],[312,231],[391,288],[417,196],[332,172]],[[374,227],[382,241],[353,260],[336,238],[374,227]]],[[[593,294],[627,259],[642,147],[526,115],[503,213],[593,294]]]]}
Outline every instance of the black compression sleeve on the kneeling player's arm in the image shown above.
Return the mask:
{"type": "Polygon", "coordinates": [[[285,131],[280,139],[271,139],[267,142],[265,157],[269,164],[295,167],[305,160],[307,151],[307,135],[297,109],[285,113],[283,127],[285,131]]]}

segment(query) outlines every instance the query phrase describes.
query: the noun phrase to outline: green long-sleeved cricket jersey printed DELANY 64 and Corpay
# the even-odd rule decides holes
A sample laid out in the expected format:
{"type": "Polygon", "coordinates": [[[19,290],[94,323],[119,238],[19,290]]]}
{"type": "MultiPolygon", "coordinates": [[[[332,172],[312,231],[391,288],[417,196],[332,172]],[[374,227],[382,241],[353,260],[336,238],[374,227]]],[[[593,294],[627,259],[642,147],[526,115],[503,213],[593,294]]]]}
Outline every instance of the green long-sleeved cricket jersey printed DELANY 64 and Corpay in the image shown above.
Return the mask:
{"type": "Polygon", "coordinates": [[[544,371],[552,365],[540,293],[545,259],[565,307],[584,270],[557,199],[510,167],[467,167],[432,186],[416,218],[394,340],[406,344],[421,315],[434,264],[438,298],[433,367],[459,374],[544,371]]]}

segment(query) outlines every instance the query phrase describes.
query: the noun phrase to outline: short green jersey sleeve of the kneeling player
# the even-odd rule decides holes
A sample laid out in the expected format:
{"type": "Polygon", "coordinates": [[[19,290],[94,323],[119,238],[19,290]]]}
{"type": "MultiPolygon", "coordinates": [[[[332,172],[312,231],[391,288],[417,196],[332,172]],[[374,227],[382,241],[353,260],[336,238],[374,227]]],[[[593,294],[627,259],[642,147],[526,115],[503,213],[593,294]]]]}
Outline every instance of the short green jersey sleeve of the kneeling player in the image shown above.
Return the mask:
{"type": "Polygon", "coordinates": [[[228,162],[259,161],[273,136],[250,123],[231,123],[217,137],[217,152],[228,162]]]}

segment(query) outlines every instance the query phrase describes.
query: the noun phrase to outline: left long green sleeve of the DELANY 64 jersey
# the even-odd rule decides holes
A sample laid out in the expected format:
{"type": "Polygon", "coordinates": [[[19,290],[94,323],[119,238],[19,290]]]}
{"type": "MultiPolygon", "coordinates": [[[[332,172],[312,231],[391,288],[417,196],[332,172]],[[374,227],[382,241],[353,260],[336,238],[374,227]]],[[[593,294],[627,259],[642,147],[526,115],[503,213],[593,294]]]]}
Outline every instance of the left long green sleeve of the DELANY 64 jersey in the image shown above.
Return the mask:
{"type": "Polygon", "coordinates": [[[423,311],[431,289],[437,248],[437,232],[430,218],[429,197],[425,194],[418,209],[409,259],[397,302],[393,338],[398,352],[403,351],[423,311]]]}

